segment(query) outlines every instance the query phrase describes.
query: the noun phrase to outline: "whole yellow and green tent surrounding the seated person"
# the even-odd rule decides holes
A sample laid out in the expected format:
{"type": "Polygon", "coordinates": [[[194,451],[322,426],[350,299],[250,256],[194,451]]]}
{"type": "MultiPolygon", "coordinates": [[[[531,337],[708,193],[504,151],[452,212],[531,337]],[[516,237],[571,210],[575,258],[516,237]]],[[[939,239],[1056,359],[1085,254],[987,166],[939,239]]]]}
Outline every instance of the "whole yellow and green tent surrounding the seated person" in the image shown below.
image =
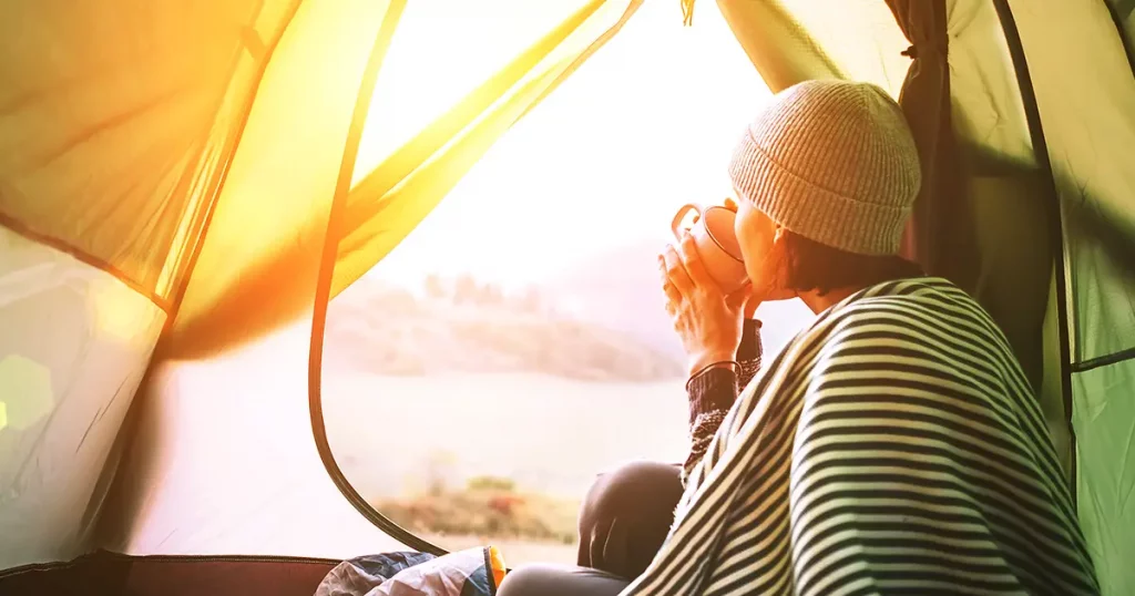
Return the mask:
{"type": "MultiPolygon", "coordinates": [[[[335,556],[445,546],[370,505],[329,446],[328,303],[642,2],[445,3],[448,27],[435,5],[0,9],[0,593],[310,594],[335,560],[287,531],[304,524],[356,529],[335,556]],[[457,65],[448,92],[420,81],[431,48],[457,65]],[[415,120],[388,96],[432,103],[415,120]],[[306,371],[309,404],[274,400],[271,373],[200,381],[296,320],[272,367],[306,371]],[[337,492],[296,476],[319,465],[337,492]]],[[[908,253],[1006,333],[1105,591],[1135,591],[1135,3],[717,6],[770,90],[848,77],[899,99],[925,170],[908,253]]]]}

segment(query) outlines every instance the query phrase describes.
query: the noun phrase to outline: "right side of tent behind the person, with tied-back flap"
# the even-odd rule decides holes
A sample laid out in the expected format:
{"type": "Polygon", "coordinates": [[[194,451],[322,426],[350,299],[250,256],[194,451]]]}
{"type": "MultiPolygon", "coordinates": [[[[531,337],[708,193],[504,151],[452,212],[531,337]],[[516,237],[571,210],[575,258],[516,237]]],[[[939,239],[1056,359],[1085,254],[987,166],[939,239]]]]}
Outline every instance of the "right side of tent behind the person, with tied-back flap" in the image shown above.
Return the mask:
{"type": "MultiPolygon", "coordinates": [[[[885,68],[855,59],[885,36],[848,40],[846,14],[827,2],[718,3],[771,86],[847,76],[896,91],[885,68]],[[792,41],[762,47],[782,39],[792,41]]],[[[1108,157],[1135,129],[1123,31],[1100,1],[889,3],[913,44],[897,96],[932,173],[914,253],[973,292],[1009,337],[1074,478],[1107,590],[1129,593],[1135,171],[1108,157]]]]}

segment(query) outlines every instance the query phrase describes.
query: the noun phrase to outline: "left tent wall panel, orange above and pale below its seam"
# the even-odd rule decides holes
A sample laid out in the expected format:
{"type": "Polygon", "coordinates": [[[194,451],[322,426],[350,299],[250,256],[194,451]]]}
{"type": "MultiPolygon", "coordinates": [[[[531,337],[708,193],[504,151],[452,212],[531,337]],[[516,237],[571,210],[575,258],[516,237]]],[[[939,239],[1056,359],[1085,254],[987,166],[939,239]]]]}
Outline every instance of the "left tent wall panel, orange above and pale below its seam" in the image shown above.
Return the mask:
{"type": "Polygon", "coordinates": [[[0,566],[89,547],[121,422],[297,5],[0,8],[0,566]]]}

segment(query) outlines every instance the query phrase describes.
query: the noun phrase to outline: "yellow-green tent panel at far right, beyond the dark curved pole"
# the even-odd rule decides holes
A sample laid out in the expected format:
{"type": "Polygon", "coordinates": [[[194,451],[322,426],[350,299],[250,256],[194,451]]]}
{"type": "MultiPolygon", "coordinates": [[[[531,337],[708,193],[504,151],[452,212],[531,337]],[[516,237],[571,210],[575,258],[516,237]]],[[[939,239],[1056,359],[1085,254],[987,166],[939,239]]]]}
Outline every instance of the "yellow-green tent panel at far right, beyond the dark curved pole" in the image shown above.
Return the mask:
{"type": "Polygon", "coordinates": [[[1008,8],[1035,93],[1031,124],[1060,200],[1081,519],[1101,578],[1125,594],[1135,590],[1135,170],[1104,156],[1135,143],[1135,66],[1107,5],[1043,15],[1018,5],[1008,8]]]}

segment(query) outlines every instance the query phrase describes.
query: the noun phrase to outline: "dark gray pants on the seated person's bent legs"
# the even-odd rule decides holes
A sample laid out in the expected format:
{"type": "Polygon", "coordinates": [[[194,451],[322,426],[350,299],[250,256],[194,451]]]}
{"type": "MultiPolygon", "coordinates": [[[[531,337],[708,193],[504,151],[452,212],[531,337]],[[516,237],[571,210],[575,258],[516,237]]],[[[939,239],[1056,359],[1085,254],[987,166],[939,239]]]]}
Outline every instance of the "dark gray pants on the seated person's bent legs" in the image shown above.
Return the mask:
{"type": "Polygon", "coordinates": [[[578,565],[526,565],[497,596],[614,596],[658,552],[682,496],[681,467],[641,462],[600,475],[579,517],[578,565]]]}

